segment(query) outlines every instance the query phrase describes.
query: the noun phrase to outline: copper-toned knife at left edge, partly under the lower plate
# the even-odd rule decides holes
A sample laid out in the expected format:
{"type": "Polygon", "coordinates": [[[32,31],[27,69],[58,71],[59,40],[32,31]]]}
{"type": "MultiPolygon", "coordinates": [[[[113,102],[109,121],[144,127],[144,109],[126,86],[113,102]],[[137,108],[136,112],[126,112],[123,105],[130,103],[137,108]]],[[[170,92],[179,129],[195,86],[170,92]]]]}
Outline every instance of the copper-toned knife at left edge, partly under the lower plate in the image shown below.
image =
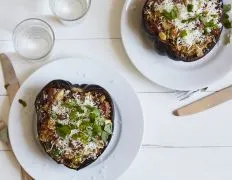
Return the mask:
{"type": "MultiPolygon", "coordinates": [[[[3,77],[5,80],[5,87],[9,96],[10,104],[12,103],[16,92],[19,89],[19,82],[16,77],[14,68],[10,62],[10,59],[5,54],[0,54],[0,60],[2,64],[3,77]]],[[[1,129],[4,128],[3,122],[1,122],[1,129]]],[[[4,129],[3,129],[4,130],[4,129]]],[[[2,131],[3,131],[2,130],[2,131]]],[[[1,132],[2,132],[1,131],[1,132]]],[[[22,180],[32,180],[32,178],[21,167],[22,180]]]]}

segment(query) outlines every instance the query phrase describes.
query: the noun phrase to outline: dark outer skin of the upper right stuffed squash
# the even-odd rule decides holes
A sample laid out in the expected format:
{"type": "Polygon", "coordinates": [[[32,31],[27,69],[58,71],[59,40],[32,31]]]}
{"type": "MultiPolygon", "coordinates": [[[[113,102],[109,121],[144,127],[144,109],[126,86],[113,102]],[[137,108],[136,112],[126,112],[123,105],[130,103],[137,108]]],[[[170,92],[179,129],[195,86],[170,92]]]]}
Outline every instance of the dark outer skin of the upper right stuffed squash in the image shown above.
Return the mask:
{"type": "MultiPolygon", "coordinates": [[[[216,36],[216,42],[211,43],[207,49],[204,50],[204,55],[201,57],[197,57],[197,56],[191,56],[191,57],[182,57],[180,55],[178,55],[177,52],[175,52],[170,45],[167,42],[164,42],[162,40],[159,39],[158,35],[154,34],[153,32],[151,32],[148,28],[148,25],[146,24],[146,20],[145,20],[145,14],[144,11],[146,9],[146,5],[148,3],[147,0],[143,6],[143,10],[142,10],[142,29],[145,31],[145,34],[147,36],[148,39],[150,39],[151,41],[153,41],[153,46],[154,46],[154,50],[162,56],[168,56],[171,60],[174,61],[184,61],[184,62],[193,62],[193,61],[197,61],[201,58],[203,58],[204,56],[206,56],[214,47],[215,45],[218,43],[219,39],[220,39],[220,35],[222,33],[223,30],[223,26],[222,28],[220,28],[220,33],[218,36],[216,36]]],[[[222,7],[223,7],[223,0],[219,0],[219,2],[222,3],[222,7]]],[[[221,19],[223,19],[223,17],[221,17],[221,19]]]]}

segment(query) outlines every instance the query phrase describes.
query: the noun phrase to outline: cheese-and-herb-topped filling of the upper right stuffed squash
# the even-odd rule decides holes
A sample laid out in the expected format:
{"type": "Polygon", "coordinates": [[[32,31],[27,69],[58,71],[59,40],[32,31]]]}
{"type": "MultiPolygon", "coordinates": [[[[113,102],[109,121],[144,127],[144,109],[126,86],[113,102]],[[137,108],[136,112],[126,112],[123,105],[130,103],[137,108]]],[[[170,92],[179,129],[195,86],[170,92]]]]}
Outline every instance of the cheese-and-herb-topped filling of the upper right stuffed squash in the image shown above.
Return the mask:
{"type": "Polygon", "coordinates": [[[150,23],[161,27],[158,27],[161,40],[171,40],[183,51],[194,46],[196,53],[196,44],[204,50],[215,41],[214,31],[222,28],[219,0],[150,0],[145,15],[150,23]]]}

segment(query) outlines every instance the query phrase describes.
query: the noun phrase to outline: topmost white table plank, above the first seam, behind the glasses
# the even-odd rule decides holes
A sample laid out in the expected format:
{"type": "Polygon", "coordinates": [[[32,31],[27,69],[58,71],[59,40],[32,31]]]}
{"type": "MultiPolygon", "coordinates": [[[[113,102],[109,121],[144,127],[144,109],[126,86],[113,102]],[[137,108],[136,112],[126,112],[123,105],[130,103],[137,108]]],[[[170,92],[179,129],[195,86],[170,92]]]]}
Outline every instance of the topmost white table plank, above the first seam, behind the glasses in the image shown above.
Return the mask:
{"type": "Polygon", "coordinates": [[[50,11],[49,0],[4,0],[0,6],[0,39],[11,39],[14,27],[26,18],[38,17],[53,27],[57,39],[119,38],[124,0],[93,0],[85,21],[67,27],[50,11]],[[17,12],[17,13],[15,13],[17,12]],[[6,21],[6,17],[10,21],[6,21]]]}

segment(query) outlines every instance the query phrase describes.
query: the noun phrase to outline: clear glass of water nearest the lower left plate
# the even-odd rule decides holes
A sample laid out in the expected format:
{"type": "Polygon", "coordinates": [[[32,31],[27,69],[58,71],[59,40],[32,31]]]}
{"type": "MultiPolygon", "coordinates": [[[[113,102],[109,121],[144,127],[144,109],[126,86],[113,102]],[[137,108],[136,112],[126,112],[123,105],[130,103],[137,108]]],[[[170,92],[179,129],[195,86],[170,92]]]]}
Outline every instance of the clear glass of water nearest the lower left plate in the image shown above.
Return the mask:
{"type": "Polygon", "coordinates": [[[16,52],[28,60],[47,57],[53,49],[54,41],[55,35],[51,26],[41,19],[26,19],[13,32],[16,52]]]}

